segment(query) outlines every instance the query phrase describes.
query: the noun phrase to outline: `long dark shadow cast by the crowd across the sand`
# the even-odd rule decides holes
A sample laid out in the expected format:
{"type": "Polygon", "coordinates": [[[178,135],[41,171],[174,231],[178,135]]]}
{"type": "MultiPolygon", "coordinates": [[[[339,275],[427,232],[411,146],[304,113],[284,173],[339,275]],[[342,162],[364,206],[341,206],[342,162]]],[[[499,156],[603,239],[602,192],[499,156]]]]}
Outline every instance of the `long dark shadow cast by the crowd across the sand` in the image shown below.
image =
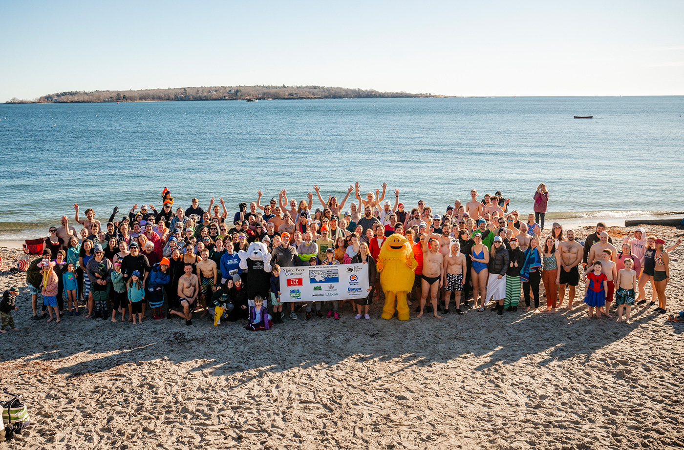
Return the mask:
{"type": "MultiPolygon", "coordinates": [[[[16,345],[5,346],[0,364],[18,358],[23,358],[23,363],[54,361],[57,374],[73,378],[115,367],[125,371],[125,365],[131,363],[192,361],[197,365],[189,371],[211,369],[215,376],[234,376],[250,369],[283,372],[293,367],[330,367],[347,358],[371,363],[394,361],[397,373],[416,365],[477,357],[486,359],[475,369],[486,371],[535,355],[533,360],[542,366],[577,355],[588,359],[596,350],[629,335],[639,324],[662,318],[653,313],[653,308],[637,307],[632,324],[617,324],[615,319],[589,321],[587,309],[581,305],[548,315],[525,313],[524,306],[503,315],[470,310],[440,320],[429,314],[415,319],[412,312],[412,320],[399,322],[396,318],[380,319],[381,307],[372,305],[373,320],[354,320],[349,305],[345,305],[339,321],[315,316],[311,322],[287,318],[285,324],[266,332],[246,331],[241,322],[213,326],[209,318],[196,318],[191,327],[179,320],[148,319],[133,326],[82,316],[73,321],[77,323],[34,322],[16,332],[11,341],[4,339],[16,345]]],[[[382,375],[388,376],[393,374],[382,375]]]]}

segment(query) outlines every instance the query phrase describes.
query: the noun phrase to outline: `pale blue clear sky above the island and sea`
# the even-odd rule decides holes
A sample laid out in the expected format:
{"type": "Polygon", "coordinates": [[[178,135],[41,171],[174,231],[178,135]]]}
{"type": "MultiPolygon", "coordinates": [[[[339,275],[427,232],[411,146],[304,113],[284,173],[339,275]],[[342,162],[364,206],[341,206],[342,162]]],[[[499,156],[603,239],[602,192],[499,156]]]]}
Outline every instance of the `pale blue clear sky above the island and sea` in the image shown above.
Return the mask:
{"type": "Polygon", "coordinates": [[[1,1],[0,17],[0,102],[263,84],[684,95],[684,1],[1,1]]]}

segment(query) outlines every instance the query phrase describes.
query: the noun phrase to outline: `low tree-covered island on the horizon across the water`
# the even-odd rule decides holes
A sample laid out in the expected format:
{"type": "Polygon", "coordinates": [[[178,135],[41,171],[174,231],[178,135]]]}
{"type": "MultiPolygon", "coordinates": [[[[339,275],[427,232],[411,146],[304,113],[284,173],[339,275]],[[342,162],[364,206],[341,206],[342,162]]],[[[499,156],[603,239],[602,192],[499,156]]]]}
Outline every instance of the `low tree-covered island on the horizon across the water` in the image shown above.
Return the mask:
{"type": "Polygon", "coordinates": [[[139,102],[189,100],[265,100],[323,98],[413,98],[443,97],[408,92],[379,92],[375,89],[351,89],[328,86],[209,86],[169,87],[167,89],[131,89],[127,91],[68,91],[49,94],[34,100],[12,98],[7,103],[139,102]]]}

